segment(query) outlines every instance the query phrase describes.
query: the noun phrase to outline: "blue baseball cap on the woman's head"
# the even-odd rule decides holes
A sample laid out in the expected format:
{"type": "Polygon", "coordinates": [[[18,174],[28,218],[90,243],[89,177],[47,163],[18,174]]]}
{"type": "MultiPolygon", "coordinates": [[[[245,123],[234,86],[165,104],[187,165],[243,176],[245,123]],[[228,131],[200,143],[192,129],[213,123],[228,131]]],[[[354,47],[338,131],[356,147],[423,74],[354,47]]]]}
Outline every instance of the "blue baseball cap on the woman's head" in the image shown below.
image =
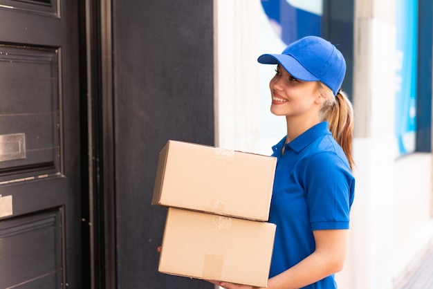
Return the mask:
{"type": "Polygon", "coordinates": [[[284,49],[282,54],[264,54],[262,64],[281,64],[288,73],[306,82],[320,81],[337,95],[346,74],[346,62],[331,42],[317,37],[303,37],[284,49]]]}

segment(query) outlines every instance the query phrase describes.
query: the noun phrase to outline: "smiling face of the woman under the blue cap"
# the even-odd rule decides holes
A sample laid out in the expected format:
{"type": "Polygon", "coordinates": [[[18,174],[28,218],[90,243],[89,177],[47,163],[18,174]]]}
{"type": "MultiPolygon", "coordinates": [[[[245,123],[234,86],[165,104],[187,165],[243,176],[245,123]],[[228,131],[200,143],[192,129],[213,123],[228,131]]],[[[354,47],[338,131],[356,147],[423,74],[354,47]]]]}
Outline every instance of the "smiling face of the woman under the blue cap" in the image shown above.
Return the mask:
{"type": "Polygon", "coordinates": [[[318,118],[321,103],[317,82],[297,80],[278,65],[269,88],[272,97],[270,111],[273,114],[294,118],[318,118]]]}

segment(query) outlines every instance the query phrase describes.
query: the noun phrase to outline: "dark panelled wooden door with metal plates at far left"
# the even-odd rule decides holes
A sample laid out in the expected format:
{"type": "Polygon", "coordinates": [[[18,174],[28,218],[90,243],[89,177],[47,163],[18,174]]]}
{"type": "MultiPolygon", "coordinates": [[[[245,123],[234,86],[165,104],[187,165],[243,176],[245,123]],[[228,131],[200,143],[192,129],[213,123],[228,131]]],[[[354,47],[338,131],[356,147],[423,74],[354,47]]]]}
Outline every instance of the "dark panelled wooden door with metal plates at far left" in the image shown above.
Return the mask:
{"type": "Polygon", "coordinates": [[[82,288],[77,3],[0,0],[0,288],[82,288]]]}

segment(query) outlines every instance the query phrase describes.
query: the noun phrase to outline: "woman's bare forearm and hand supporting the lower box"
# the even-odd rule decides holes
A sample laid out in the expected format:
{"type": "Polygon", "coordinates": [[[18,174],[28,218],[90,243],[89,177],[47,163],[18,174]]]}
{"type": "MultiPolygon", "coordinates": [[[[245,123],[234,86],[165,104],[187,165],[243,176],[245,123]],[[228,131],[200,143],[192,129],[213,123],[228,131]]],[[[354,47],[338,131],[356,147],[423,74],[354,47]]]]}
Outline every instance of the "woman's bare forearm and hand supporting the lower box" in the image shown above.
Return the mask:
{"type": "MultiPolygon", "coordinates": [[[[315,251],[292,268],[269,279],[268,289],[298,289],[342,270],[348,230],[313,231],[315,251]]],[[[213,282],[227,289],[260,289],[227,282],[213,282]]]]}

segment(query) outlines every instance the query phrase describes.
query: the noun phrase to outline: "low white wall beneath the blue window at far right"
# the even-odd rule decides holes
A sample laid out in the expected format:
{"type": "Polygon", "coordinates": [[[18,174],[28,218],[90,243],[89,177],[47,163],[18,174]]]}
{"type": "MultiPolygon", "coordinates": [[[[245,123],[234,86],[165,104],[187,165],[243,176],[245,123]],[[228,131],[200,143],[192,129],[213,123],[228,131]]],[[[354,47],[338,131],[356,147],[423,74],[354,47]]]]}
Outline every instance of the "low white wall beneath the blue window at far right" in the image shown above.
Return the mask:
{"type": "Polygon", "coordinates": [[[400,281],[433,238],[432,154],[396,160],[395,180],[392,273],[400,281]]]}

